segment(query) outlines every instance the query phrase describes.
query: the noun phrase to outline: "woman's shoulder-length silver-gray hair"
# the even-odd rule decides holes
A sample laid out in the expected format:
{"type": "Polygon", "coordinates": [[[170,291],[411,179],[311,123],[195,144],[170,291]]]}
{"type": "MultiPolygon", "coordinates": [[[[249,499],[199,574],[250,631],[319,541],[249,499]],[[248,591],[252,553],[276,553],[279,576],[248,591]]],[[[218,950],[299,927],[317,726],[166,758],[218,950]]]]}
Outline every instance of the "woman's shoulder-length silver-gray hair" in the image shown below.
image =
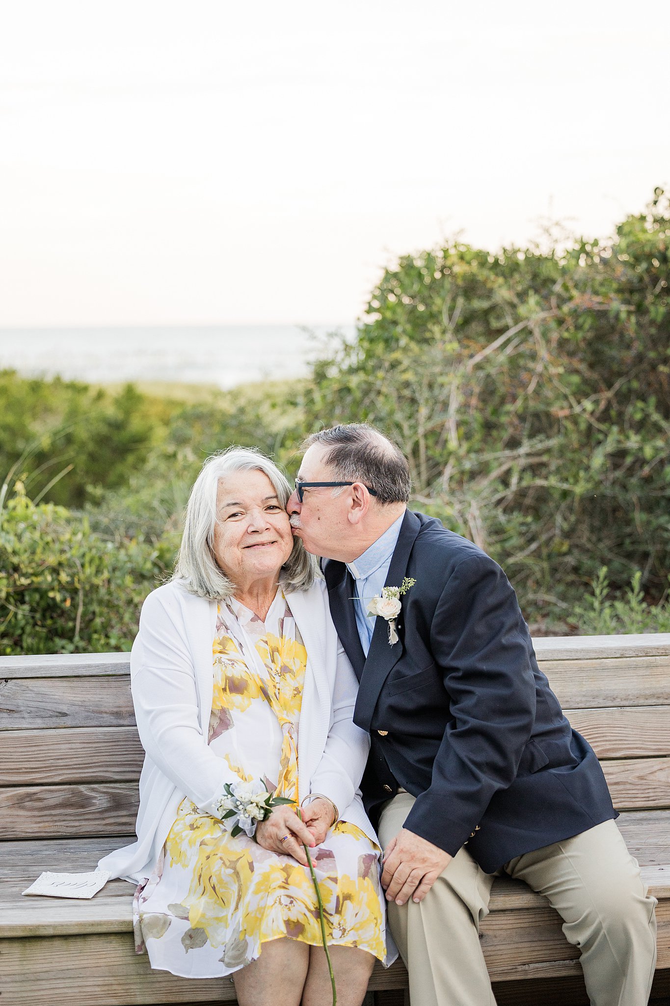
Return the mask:
{"type": "MultiPolygon", "coordinates": [[[[191,594],[222,601],[235,593],[235,583],[226,576],[214,555],[216,497],[220,479],[227,479],[235,472],[251,471],[268,477],[283,507],[288,502],[292,490],[286,477],[255,448],[231,447],[208,458],[189,496],[184,534],[171,577],[181,581],[191,594]]],[[[317,570],[315,556],[306,551],[299,538],[294,538],[293,550],[281,567],[279,582],[288,591],[306,591],[317,570]]]]}

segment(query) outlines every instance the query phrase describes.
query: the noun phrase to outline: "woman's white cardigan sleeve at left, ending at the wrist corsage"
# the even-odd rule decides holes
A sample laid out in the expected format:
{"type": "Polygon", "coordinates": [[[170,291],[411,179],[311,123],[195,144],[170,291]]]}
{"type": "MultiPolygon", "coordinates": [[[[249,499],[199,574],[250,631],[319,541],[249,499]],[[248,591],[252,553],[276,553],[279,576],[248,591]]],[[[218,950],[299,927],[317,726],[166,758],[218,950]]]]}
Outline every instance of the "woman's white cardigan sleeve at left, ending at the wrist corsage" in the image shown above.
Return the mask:
{"type": "Polygon", "coordinates": [[[150,594],[143,606],[131,667],[138,730],[147,754],[200,810],[218,816],[213,805],[235,777],[203,736],[181,609],[164,603],[160,592],[150,594]]]}

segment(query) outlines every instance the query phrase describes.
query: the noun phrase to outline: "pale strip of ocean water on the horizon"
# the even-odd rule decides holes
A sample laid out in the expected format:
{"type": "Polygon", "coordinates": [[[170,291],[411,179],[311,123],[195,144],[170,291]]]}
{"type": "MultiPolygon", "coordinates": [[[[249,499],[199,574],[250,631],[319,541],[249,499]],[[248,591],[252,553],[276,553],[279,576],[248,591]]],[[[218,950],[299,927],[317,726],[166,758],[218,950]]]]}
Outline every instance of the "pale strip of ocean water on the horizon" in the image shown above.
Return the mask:
{"type": "MultiPolygon", "coordinates": [[[[221,388],[307,373],[337,326],[219,325],[0,329],[0,370],[90,381],[169,381],[221,388]]],[[[353,325],[340,326],[346,337],[353,325]]]]}

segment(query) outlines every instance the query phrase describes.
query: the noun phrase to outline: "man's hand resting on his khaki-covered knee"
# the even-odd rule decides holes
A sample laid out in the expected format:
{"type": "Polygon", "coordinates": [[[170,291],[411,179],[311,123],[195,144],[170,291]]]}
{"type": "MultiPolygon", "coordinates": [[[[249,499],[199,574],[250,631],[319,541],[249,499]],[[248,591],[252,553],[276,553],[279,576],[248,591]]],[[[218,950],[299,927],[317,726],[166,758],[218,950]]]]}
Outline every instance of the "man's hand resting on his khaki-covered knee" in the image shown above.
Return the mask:
{"type": "Polygon", "coordinates": [[[384,853],[382,886],[387,900],[422,901],[452,857],[413,831],[401,828],[384,853]]]}

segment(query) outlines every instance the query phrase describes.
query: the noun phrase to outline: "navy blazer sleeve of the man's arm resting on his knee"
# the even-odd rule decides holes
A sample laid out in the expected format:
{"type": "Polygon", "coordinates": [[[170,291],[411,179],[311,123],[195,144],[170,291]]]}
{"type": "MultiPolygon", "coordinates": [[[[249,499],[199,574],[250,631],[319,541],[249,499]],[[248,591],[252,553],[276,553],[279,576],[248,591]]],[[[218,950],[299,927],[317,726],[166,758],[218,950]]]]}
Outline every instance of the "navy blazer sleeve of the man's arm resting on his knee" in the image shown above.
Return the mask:
{"type": "Polygon", "coordinates": [[[431,785],[417,797],[405,827],[453,856],[493,795],[513,782],[535,717],[527,630],[511,584],[487,555],[456,566],[430,640],[451,718],[431,785]]]}

